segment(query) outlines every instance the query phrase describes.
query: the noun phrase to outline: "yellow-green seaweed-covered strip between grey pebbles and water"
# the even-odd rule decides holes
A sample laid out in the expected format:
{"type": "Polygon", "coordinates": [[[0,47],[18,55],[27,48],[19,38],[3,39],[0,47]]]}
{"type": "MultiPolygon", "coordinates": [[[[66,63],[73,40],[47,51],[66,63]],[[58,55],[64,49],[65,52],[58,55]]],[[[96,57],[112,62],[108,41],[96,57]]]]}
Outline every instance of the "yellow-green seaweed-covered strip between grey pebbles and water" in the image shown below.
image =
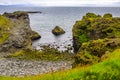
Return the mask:
{"type": "Polygon", "coordinates": [[[71,60],[72,55],[67,51],[60,52],[56,48],[44,46],[42,51],[23,49],[10,56],[10,58],[19,58],[21,60],[71,60]]]}

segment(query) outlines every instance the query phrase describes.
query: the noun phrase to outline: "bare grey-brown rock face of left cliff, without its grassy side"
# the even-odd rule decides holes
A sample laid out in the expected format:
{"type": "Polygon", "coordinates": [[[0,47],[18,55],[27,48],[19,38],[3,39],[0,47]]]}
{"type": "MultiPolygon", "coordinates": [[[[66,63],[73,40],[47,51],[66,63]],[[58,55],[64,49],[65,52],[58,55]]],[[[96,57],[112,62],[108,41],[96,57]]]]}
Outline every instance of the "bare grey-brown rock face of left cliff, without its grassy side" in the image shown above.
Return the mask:
{"type": "Polygon", "coordinates": [[[40,35],[31,30],[28,14],[26,12],[14,12],[4,13],[3,16],[8,18],[13,25],[9,30],[8,39],[0,44],[0,52],[14,53],[23,48],[32,48],[32,40],[40,38],[40,35]]]}

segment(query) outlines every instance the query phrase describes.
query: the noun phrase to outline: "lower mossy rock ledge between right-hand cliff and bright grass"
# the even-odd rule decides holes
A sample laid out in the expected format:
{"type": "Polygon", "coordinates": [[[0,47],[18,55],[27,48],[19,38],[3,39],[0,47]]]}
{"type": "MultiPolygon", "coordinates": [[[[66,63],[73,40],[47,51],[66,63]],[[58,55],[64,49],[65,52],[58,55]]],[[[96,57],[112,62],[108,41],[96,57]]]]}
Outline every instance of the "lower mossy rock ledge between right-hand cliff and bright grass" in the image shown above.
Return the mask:
{"type": "Polygon", "coordinates": [[[94,64],[102,61],[102,57],[120,48],[120,38],[98,39],[83,43],[75,56],[75,65],[94,64]]]}

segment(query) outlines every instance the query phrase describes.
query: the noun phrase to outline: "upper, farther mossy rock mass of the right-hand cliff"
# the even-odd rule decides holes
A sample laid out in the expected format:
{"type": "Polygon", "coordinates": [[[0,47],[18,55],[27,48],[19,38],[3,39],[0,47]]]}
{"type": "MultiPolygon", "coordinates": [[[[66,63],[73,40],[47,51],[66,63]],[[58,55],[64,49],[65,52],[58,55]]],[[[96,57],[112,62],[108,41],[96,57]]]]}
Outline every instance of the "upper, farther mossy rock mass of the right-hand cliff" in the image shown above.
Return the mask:
{"type": "Polygon", "coordinates": [[[82,43],[90,40],[120,37],[120,18],[107,13],[103,17],[87,13],[73,26],[73,47],[77,52],[82,43]]]}

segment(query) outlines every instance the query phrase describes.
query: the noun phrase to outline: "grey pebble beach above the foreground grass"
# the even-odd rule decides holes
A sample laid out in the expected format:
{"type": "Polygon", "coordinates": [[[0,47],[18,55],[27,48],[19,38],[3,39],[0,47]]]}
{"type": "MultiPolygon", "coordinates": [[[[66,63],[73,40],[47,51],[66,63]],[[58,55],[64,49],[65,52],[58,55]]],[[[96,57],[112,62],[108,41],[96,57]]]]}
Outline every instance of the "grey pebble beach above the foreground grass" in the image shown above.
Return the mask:
{"type": "Polygon", "coordinates": [[[39,75],[58,70],[71,69],[71,61],[35,61],[0,59],[0,76],[39,75]]]}

